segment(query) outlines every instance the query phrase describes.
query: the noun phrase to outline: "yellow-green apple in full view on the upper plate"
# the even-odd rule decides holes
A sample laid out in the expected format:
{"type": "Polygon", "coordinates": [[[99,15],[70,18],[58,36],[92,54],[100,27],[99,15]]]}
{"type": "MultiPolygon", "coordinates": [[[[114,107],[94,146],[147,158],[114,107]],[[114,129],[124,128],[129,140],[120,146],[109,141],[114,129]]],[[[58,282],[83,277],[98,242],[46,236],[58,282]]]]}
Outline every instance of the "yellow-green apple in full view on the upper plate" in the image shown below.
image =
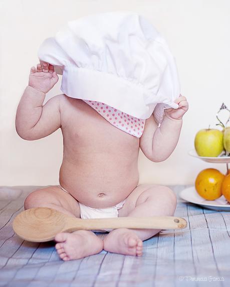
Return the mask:
{"type": "Polygon", "coordinates": [[[216,128],[200,129],[195,135],[194,146],[200,157],[218,157],[223,151],[223,131],[216,128]]]}

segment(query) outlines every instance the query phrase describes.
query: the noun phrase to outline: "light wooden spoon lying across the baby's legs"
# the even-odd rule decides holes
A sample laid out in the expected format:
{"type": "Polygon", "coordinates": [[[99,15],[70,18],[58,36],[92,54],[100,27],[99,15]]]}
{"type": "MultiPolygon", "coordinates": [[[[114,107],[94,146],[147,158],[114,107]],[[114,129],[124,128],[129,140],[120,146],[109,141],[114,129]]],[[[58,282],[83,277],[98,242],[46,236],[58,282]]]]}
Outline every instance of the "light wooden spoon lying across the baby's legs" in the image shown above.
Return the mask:
{"type": "Polygon", "coordinates": [[[173,216],[80,219],[53,208],[38,207],[18,214],[14,219],[13,229],[25,240],[45,242],[54,240],[59,232],[73,232],[79,229],[178,229],[185,228],[186,225],[185,219],[173,216]]]}

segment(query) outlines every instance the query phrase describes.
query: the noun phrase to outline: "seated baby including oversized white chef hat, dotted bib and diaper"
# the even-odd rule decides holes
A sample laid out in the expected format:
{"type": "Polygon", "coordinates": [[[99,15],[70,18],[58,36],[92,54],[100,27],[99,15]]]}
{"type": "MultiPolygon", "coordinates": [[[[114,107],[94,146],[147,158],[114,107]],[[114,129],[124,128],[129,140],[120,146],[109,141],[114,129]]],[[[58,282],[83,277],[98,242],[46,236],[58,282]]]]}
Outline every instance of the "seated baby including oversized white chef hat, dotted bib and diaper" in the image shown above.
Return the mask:
{"type": "MultiPolygon", "coordinates": [[[[188,109],[165,42],[143,18],[126,12],[86,17],[68,29],[44,42],[17,109],[22,138],[39,139],[61,128],[64,144],[60,185],[32,192],[25,209],[50,207],[78,218],[172,216],[176,196],[170,188],[138,184],[139,148],[152,162],[166,160],[188,109]],[[63,93],[43,105],[59,79],[55,65],[64,67],[63,93]],[[156,102],[169,107],[162,117],[162,110],[152,111],[156,102]]],[[[103,240],[86,230],[57,234],[60,258],[102,249],[141,256],[142,241],[160,230],[100,231],[109,234],[103,240]]]]}

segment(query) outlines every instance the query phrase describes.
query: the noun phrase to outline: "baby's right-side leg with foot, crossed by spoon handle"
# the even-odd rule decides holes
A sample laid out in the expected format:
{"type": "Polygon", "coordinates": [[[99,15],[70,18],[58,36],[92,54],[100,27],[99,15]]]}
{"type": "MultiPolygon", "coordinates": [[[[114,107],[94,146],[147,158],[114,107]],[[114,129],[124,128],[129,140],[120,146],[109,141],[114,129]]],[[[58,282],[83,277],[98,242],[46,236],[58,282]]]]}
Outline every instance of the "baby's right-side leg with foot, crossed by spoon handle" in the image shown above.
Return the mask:
{"type": "MultiPolygon", "coordinates": [[[[160,185],[139,185],[127,197],[119,210],[119,216],[172,216],[176,208],[176,196],[171,189],[160,185]]],[[[142,255],[142,240],[146,240],[159,229],[112,230],[104,239],[104,249],[114,253],[142,255]]]]}

